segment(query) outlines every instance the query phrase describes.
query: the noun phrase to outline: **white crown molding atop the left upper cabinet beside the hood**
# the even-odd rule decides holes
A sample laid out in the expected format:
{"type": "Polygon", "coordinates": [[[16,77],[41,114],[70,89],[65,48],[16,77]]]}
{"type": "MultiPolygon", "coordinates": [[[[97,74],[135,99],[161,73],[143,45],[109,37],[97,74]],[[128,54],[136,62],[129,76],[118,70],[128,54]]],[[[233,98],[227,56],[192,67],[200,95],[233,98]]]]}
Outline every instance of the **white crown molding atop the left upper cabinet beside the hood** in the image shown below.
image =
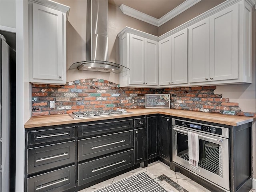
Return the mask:
{"type": "Polygon", "coordinates": [[[35,2],[37,4],[47,6],[49,8],[64,12],[64,13],[66,13],[66,20],[68,20],[70,6],[66,6],[66,5],[60,4],[58,2],[54,2],[52,0],[28,0],[28,1],[35,2]]]}

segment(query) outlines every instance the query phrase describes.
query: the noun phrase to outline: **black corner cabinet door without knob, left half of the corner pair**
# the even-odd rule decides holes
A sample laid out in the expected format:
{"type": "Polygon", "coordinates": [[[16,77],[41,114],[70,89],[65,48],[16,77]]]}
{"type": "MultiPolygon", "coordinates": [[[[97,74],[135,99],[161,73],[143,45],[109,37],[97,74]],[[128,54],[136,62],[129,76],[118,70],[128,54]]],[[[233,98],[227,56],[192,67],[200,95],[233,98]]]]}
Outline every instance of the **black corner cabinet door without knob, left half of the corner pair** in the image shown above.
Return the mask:
{"type": "Polygon", "coordinates": [[[148,159],[158,156],[158,116],[147,117],[148,159]]]}

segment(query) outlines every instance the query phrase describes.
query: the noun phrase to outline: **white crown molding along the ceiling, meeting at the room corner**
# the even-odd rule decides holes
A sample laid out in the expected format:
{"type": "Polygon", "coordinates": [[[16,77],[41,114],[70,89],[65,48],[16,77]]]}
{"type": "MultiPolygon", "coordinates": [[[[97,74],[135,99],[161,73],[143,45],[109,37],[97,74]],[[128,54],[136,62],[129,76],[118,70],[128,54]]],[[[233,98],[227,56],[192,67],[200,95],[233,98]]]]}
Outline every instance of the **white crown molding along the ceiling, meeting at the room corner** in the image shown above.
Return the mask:
{"type": "Polygon", "coordinates": [[[172,18],[176,17],[178,14],[186,11],[188,8],[192,7],[193,5],[197,4],[201,0],[186,0],[182,4],[180,4],[178,7],[174,8],[172,11],[168,12],[164,16],[162,16],[160,19],[156,19],[152,16],[149,16],[147,14],[144,14],[136,9],[130,8],[124,4],[120,5],[120,9],[123,12],[123,14],[126,14],[128,16],[131,16],[133,18],[136,18],[138,20],[147,22],[149,24],[152,24],[154,26],[161,26],[162,24],[168,22],[172,18]]]}

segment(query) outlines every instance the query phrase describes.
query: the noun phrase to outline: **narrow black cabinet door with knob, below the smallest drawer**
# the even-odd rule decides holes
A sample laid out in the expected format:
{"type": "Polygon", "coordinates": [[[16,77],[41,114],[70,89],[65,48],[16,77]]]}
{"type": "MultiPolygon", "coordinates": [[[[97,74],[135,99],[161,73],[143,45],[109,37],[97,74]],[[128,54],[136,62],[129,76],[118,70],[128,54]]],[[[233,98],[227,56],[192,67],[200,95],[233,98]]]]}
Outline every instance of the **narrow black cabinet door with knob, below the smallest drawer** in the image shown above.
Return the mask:
{"type": "Polygon", "coordinates": [[[134,129],[134,164],[146,160],[146,128],[134,129]]]}

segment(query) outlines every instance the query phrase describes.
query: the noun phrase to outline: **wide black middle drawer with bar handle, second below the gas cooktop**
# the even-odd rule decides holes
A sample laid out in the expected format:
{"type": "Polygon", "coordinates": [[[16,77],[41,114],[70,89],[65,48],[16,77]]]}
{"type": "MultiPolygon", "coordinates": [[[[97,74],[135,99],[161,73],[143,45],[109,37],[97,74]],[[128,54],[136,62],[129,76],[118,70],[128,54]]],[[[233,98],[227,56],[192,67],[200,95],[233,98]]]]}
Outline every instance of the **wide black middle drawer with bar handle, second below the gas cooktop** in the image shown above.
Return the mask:
{"type": "Polygon", "coordinates": [[[78,140],[78,161],[133,147],[133,130],[78,140]]]}

